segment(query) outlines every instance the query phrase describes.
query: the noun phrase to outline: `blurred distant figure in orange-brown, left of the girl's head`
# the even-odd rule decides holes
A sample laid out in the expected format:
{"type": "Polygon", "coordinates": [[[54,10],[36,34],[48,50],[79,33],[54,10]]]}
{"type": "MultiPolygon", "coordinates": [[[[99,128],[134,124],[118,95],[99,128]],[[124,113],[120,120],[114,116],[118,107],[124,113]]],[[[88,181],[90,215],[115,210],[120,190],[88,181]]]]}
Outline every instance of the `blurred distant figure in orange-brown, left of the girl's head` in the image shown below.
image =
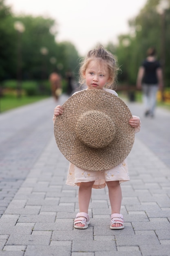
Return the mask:
{"type": "Polygon", "coordinates": [[[62,94],[62,79],[57,70],[52,72],[49,76],[49,81],[51,83],[51,92],[55,100],[58,100],[62,94]]]}

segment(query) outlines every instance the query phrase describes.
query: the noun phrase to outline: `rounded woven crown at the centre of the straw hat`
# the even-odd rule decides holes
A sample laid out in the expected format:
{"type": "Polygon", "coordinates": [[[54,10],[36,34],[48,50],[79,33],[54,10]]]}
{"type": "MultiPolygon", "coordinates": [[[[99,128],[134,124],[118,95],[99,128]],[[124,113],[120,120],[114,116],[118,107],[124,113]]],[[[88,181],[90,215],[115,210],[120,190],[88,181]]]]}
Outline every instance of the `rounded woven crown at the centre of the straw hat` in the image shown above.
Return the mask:
{"type": "Polygon", "coordinates": [[[90,110],[79,116],[75,134],[90,148],[104,148],[114,139],[116,127],[113,120],[104,112],[90,110]]]}

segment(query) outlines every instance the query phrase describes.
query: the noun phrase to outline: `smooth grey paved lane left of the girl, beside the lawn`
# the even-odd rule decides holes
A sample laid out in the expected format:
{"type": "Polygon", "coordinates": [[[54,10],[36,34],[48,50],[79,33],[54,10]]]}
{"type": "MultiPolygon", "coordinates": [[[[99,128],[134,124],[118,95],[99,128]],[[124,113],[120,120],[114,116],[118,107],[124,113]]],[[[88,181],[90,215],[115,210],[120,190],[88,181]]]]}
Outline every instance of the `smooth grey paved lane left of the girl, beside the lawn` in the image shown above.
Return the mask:
{"type": "Polygon", "coordinates": [[[49,98],[0,114],[0,216],[53,136],[55,105],[49,98]]]}

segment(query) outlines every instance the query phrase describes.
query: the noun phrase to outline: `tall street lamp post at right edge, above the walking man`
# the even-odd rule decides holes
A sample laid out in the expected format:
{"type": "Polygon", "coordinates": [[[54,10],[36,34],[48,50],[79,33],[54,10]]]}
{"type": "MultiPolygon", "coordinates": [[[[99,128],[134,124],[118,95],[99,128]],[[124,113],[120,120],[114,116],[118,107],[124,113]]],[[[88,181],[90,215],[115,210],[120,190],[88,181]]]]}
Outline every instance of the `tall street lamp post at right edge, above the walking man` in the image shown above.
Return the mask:
{"type": "MultiPolygon", "coordinates": [[[[166,59],[166,9],[169,8],[168,0],[161,0],[157,5],[157,12],[161,15],[161,65],[162,65],[162,75],[163,75],[163,85],[165,83],[165,59],[166,59]]],[[[162,89],[162,101],[164,101],[163,97],[163,89],[162,89]]]]}

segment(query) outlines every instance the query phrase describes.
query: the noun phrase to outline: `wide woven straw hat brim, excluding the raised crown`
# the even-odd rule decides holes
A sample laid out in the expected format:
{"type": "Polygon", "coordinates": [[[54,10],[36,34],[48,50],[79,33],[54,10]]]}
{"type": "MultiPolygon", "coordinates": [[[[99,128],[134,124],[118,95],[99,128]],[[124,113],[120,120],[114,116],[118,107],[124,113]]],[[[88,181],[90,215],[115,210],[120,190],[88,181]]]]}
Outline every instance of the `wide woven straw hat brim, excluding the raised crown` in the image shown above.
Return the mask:
{"type": "Polygon", "coordinates": [[[61,153],[75,166],[89,171],[103,171],[120,164],[132,149],[135,131],[129,124],[132,114],[119,97],[105,90],[83,90],[73,94],[56,117],[54,135],[61,153]],[[77,119],[87,111],[99,110],[108,115],[116,127],[113,141],[104,148],[91,148],[77,138],[77,119]]]}

